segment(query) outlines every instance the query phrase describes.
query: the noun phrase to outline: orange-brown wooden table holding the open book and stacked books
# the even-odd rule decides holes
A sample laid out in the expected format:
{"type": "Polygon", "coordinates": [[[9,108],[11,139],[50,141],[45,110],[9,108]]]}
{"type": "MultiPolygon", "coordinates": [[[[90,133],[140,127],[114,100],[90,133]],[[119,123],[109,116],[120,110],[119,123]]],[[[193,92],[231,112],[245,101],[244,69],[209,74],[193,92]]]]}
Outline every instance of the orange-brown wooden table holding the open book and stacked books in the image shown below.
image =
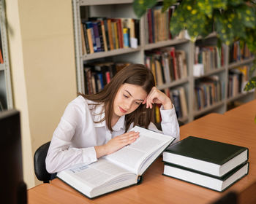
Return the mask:
{"type": "MultiPolygon", "coordinates": [[[[255,103],[250,103],[254,106],[255,103]]],[[[245,109],[248,111],[248,106],[245,109]]],[[[252,109],[249,109],[252,110],[252,109]]],[[[233,109],[233,111],[240,111],[233,109]]],[[[241,111],[243,112],[243,111],[241,111]]],[[[251,113],[247,113],[250,115],[251,113]]],[[[87,197],[80,195],[74,189],[64,184],[58,178],[54,179],[47,188],[56,188],[66,192],[69,203],[78,203],[75,199],[83,200],[83,203],[212,203],[219,199],[227,192],[235,191],[238,193],[240,203],[256,203],[256,124],[243,117],[234,117],[236,114],[208,114],[206,117],[197,119],[181,127],[181,139],[187,136],[198,136],[215,141],[222,141],[249,148],[249,174],[236,182],[225,192],[214,192],[211,189],[199,187],[180,181],[175,178],[162,176],[163,163],[161,158],[157,159],[143,175],[143,182],[138,186],[121,189],[117,192],[104,195],[102,197],[89,200],[87,197]]],[[[43,184],[44,185],[44,184],[43,184]]],[[[40,186],[39,186],[40,187],[40,186]]],[[[42,188],[42,187],[41,187],[42,188]]],[[[34,190],[37,187],[34,188],[34,190]]],[[[61,197],[63,193],[56,190],[55,197],[61,197]]],[[[30,190],[29,190],[30,191],[30,190]]],[[[34,192],[29,201],[34,199],[34,192]]],[[[38,192],[39,194],[39,189],[38,192]]],[[[48,196],[45,194],[45,196],[48,196]]],[[[64,199],[65,200],[65,199],[64,199]]],[[[31,202],[30,202],[31,203],[31,202]]]]}

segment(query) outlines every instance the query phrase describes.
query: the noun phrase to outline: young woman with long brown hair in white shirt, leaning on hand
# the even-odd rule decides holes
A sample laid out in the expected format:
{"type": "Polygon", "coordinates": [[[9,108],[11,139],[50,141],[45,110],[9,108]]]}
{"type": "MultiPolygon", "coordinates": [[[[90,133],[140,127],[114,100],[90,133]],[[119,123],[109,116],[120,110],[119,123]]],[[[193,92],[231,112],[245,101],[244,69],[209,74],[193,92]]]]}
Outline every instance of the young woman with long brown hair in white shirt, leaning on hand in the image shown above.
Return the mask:
{"type": "Polygon", "coordinates": [[[163,133],[178,141],[173,103],[157,90],[154,76],[146,66],[129,65],[118,71],[101,92],[80,94],[68,104],[53,133],[46,169],[56,173],[82,162],[96,162],[134,142],[139,133],[129,130],[135,125],[157,131],[151,122],[154,103],[162,104],[163,133]]]}

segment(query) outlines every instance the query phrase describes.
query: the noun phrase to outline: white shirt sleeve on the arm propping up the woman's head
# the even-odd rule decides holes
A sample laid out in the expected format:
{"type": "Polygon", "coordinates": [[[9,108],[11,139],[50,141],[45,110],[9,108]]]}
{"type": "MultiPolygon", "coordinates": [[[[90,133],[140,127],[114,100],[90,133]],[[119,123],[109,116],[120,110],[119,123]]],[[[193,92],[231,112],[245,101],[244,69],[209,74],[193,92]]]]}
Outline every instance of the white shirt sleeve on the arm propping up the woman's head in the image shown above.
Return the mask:
{"type": "Polygon", "coordinates": [[[173,106],[173,109],[164,110],[163,106],[160,108],[160,113],[162,117],[161,127],[162,131],[158,130],[154,123],[150,123],[148,126],[149,130],[154,130],[159,133],[164,133],[167,136],[172,136],[176,138],[173,143],[176,143],[180,139],[179,135],[179,125],[178,119],[176,117],[176,111],[173,106]]]}

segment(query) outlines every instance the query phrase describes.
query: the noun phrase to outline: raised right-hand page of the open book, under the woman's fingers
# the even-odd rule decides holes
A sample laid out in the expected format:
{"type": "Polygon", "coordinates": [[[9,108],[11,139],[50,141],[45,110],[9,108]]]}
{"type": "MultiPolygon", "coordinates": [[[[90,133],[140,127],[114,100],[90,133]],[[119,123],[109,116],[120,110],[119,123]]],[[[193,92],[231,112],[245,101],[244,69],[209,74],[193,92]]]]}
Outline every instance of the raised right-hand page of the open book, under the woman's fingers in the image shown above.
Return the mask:
{"type": "MultiPolygon", "coordinates": [[[[140,132],[139,138],[134,143],[124,146],[124,148],[105,158],[138,175],[141,164],[148,160],[148,157],[151,157],[154,153],[160,154],[161,152],[159,150],[162,149],[163,151],[175,138],[138,126],[133,127],[132,130],[140,132]]],[[[155,158],[157,156],[155,155],[155,158]]],[[[148,160],[148,162],[150,161],[148,160]]]]}

